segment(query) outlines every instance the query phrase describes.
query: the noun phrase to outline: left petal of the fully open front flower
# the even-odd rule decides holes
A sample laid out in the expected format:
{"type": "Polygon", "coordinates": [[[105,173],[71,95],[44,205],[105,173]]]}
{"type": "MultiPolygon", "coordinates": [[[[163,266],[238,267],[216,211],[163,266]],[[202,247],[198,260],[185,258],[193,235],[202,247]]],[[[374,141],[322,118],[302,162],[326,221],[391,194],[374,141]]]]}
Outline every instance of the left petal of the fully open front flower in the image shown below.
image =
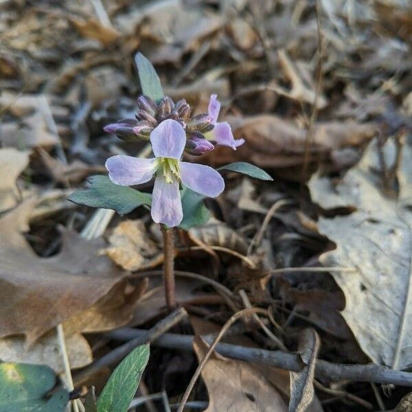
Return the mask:
{"type": "Polygon", "coordinates": [[[156,159],[117,155],[106,160],[109,179],[121,186],[139,185],[150,181],[156,168],[156,159]]]}

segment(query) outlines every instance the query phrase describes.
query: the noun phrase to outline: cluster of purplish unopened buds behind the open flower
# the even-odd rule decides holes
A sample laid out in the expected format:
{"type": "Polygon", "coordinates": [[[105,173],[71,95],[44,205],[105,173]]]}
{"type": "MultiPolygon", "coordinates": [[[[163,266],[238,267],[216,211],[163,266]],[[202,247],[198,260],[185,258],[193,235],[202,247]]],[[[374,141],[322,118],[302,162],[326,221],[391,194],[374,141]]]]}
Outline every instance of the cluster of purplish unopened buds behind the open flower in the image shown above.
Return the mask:
{"type": "Polygon", "coordinates": [[[122,119],[117,123],[108,124],[104,128],[107,133],[115,133],[124,141],[148,140],[152,130],[165,119],[173,119],[179,122],[186,132],[186,152],[191,155],[202,155],[214,146],[205,139],[204,133],[214,128],[214,119],[207,113],[201,113],[192,117],[192,109],[186,100],[182,99],[174,103],[165,96],[159,104],[156,104],[146,95],[137,99],[138,110],[136,119],[122,119]]]}

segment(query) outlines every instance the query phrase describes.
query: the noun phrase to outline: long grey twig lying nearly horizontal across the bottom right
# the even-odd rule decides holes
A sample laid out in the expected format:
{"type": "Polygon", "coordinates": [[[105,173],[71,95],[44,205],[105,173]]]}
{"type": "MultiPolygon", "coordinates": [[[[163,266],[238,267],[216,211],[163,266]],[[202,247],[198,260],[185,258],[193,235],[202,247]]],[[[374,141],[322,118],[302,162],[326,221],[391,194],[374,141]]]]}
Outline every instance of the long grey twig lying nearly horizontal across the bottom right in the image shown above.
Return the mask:
{"type": "MultiPolygon", "coordinates": [[[[146,335],[147,330],[122,328],[114,330],[109,335],[113,339],[135,339],[146,335]]],[[[211,343],[210,336],[202,336],[207,343],[211,343]]],[[[194,336],[182,334],[163,334],[159,339],[152,341],[152,345],[167,347],[177,350],[193,350],[194,336]]],[[[304,367],[299,354],[271,351],[254,347],[231,345],[229,343],[218,343],[216,352],[227,358],[254,363],[255,365],[266,365],[299,372],[304,367]]],[[[315,376],[321,380],[338,382],[340,380],[354,380],[358,382],[376,382],[412,387],[412,373],[397,371],[382,365],[346,365],[343,363],[331,363],[318,359],[316,363],[315,376]]]]}

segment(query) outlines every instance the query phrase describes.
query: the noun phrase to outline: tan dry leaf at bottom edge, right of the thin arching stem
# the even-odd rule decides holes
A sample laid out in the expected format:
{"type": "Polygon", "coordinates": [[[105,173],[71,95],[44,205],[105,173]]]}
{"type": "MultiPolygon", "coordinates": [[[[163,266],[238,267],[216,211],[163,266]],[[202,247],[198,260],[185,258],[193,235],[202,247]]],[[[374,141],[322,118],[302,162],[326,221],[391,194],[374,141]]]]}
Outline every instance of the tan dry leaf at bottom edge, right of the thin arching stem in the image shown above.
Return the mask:
{"type": "MultiPolygon", "coordinates": [[[[201,361],[208,345],[196,336],[194,351],[201,361]]],[[[286,404],[275,387],[248,363],[211,355],[202,369],[209,393],[205,412],[286,412],[286,404]]]]}

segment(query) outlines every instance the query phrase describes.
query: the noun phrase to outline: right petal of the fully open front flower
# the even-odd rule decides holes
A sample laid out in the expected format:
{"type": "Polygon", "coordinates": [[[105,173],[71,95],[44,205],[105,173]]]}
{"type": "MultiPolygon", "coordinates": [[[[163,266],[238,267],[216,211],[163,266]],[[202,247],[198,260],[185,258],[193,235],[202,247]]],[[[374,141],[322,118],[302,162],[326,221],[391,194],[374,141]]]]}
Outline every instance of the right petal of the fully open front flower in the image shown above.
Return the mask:
{"type": "Polygon", "coordinates": [[[225,189],[222,176],[210,166],[181,161],[180,172],[183,185],[194,192],[216,197],[225,189]]]}

